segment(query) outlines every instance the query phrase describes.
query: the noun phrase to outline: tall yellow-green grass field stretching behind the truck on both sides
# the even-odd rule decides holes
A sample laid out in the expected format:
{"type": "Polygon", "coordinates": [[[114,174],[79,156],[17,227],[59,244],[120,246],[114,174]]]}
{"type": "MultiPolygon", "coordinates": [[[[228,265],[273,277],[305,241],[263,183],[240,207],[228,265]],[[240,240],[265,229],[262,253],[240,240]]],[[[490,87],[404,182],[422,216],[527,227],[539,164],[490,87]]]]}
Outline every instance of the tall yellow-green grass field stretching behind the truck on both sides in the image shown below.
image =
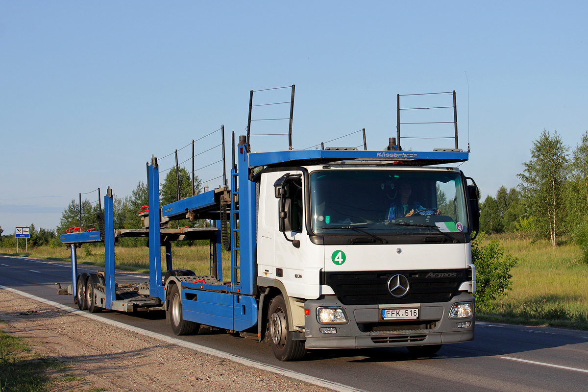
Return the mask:
{"type": "MultiPolygon", "coordinates": [[[[506,236],[485,237],[483,242],[493,239],[499,240],[505,252],[519,261],[512,270],[512,290],[493,301],[491,310],[479,311],[480,319],[588,329],[588,264],[580,261],[582,253],[576,245],[561,243],[553,249],[547,241],[532,242],[506,236]]],[[[0,252],[16,256],[5,248],[0,248],[0,252]]],[[[175,269],[209,274],[208,246],[173,247],[172,255],[175,269]]],[[[64,247],[39,247],[19,256],[69,261],[69,251],[64,247]]],[[[115,257],[121,269],[149,270],[146,247],[115,247],[115,257]]],[[[223,253],[225,280],[230,276],[229,257],[229,253],[223,253]]],[[[78,260],[103,266],[103,248],[85,245],[78,250],[78,260]]],[[[162,260],[165,270],[163,249],[162,260]]]]}

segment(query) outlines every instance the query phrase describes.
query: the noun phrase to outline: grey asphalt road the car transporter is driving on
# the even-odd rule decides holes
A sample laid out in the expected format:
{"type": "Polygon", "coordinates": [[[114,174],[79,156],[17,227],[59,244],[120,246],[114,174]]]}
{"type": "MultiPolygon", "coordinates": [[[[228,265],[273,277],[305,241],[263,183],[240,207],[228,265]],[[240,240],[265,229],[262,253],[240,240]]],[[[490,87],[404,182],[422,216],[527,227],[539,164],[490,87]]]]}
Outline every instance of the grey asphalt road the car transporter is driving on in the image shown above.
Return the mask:
{"type": "MultiPolygon", "coordinates": [[[[78,266],[79,272],[84,269],[78,266]]],[[[141,274],[116,274],[119,283],[147,280],[141,274]]],[[[0,256],[1,285],[77,309],[72,296],[57,294],[55,282],[71,284],[71,267],[0,256]]],[[[174,336],[162,312],[97,315],[174,336]]],[[[288,363],[276,360],[268,344],[224,331],[203,328],[199,335],[178,338],[370,392],[588,390],[588,331],[479,322],[475,340],[447,344],[427,359],[414,359],[399,347],[315,350],[304,361],[288,363]]]]}

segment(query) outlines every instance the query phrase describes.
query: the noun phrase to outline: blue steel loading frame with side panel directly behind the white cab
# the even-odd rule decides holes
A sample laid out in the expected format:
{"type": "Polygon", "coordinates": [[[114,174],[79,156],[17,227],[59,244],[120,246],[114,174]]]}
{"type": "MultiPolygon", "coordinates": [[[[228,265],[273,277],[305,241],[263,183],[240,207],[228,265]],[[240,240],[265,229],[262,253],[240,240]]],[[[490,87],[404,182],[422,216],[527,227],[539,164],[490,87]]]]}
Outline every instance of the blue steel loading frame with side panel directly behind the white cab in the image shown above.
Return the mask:
{"type": "MultiPolygon", "coordinates": [[[[240,157],[245,160],[246,155],[242,150],[240,157]]],[[[155,157],[148,165],[148,189],[149,189],[149,211],[159,210],[159,167],[155,157]]],[[[248,179],[248,166],[245,162],[239,162],[239,174],[235,168],[232,169],[232,189],[246,189],[248,193],[255,190],[255,186],[248,179]],[[249,183],[249,184],[247,184],[249,183]]],[[[253,193],[255,195],[255,193],[253,193]]],[[[249,200],[249,197],[239,195],[240,202],[249,200]]],[[[252,199],[255,202],[255,196],[252,199]]],[[[192,279],[193,276],[173,277],[176,283],[181,286],[182,311],[186,320],[198,320],[198,323],[216,326],[228,330],[244,330],[255,325],[257,319],[257,304],[253,297],[253,274],[255,266],[249,260],[253,260],[253,246],[246,246],[247,262],[241,266],[239,257],[242,257],[243,250],[238,246],[250,244],[255,240],[255,233],[240,233],[237,239],[235,230],[231,232],[230,249],[232,276],[229,282],[225,282],[222,275],[222,236],[219,228],[223,227],[222,218],[231,220],[231,226],[236,225],[236,220],[243,219],[238,213],[238,200],[236,195],[231,193],[228,187],[220,187],[199,195],[186,197],[186,199],[169,203],[162,207],[161,214],[150,213],[148,216],[149,227],[161,227],[162,222],[169,220],[185,219],[213,219],[215,220],[215,234],[210,239],[212,248],[213,270],[211,276],[204,279],[192,279]],[[233,197],[232,197],[233,196],[233,197]],[[230,214],[221,213],[230,205],[230,214]],[[224,208],[221,208],[223,207],[224,208]],[[160,220],[161,219],[161,220],[160,220]],[[238,252],[235,252],[238,250],[238,252]],[[185,299],[185,300],[184,300],[185,299]]],[[[249,206],[249,210],[251,207],[249,206]]],[[[255,209],[253,209],[255,211],[255,209]]],[[[242,221],[242,225],[245,222],[242,221]]],[[[225,222],[226,227],[226,222],[225,222]]],[[[255,226],[253,226],[255,227],[255,226]]],[[[243,227],[241,227],[243,228],[243,227]]],[[[163,230],[161,230],[163,231],[163,230]]],[[[161,284],[161,253],[162,245],[168,247],[169,242],[162,243],[163,236],[158,235],[157,230],[149,230],[149,266],[150,266],[150,294],[165,300],[165,284],[161,284]],[[159,279],[158,279],[159,277],[159,279]]],[[[166,250],[168,250],[166,248],[166,250]]],[[[170,249],[171,250],[171,249],[170,249]]],[[[168,271],[171,268],[171,252],[166,252],[168,259],[168,271]]]]}

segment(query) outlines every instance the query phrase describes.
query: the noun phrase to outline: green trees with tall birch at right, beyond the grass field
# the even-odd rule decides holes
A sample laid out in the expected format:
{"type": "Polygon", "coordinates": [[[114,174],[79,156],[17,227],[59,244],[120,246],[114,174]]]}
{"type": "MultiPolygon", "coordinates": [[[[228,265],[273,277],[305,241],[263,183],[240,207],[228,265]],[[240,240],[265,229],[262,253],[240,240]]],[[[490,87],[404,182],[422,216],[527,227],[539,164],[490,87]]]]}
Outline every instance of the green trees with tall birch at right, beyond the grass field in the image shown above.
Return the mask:
{"type": "Polygon", "coordinates": [[[501,186],[480,205],[480,231],[527,233],[548,239],[572,239],[588,261],[588,131],[570,154],[560,135],[543,130],[523,162],[520,184],[501,186]]]}

